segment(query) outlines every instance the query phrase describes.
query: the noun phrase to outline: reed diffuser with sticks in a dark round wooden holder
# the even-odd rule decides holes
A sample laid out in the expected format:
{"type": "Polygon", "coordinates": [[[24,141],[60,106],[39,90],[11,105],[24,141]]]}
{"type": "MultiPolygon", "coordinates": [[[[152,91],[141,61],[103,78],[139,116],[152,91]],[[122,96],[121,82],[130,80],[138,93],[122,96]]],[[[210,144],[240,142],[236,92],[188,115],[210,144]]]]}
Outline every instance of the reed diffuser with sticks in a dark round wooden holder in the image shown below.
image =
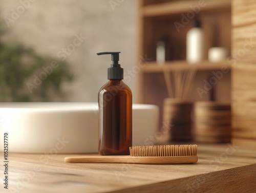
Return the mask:
{"type": "Polygon", "coordinates": [[[170,126],[170,141],[190,141],[193,103],[189,96],[196,71],[163,73],[169,96],[163,101],[163,126],[170,126]]]}

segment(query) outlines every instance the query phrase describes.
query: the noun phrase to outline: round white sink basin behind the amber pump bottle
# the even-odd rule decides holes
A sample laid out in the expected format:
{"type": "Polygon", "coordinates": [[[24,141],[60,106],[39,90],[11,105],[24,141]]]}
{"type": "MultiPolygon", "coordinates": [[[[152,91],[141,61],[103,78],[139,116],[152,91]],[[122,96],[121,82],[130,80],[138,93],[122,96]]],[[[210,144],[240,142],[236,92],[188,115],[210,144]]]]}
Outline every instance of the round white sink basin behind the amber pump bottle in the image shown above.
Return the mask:
{"type": "MultiPolygon", "coordinates": [[[[157,132],[156,105],[133,104],[133,146],[157,132]]],[[[9,152],[98,152],[97,103],[0,103],[0,148],[8,132],[9,152]]]]}

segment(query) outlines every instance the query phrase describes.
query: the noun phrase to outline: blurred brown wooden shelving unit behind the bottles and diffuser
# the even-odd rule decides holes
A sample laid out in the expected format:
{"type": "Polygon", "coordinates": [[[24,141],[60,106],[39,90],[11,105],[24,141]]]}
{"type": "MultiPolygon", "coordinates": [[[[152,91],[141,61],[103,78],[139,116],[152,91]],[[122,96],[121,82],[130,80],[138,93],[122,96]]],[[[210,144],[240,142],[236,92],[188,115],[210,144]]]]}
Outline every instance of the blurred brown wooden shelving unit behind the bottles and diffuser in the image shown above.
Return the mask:
{"type": "MultiPolygon", "coordinates": [[[[189,65],[186,62],[186,34],[192,27],[193,19],[198,17],[205,34],[204,58],[207,58],[211,47],[231,48],[231,0],[205,1],[200,6],[198,0],[139,0],[138,1],[138,34],[137,58],[151,58],[137,76],[137,102],[156,104],[160,108],[162,121],[162,102],[168,97],[163,71],[197,70],[191,100],[208,100],[210,92],[202,98],[197,88],[204,86],[205,80],[213,76],[212,71],[220,71],[224,66],[231,70],[227,61],[212,63],[205,59],[200,63],[189,65]],[[189,22],[177,29],[175,22],[182,24],[182,18],[200,6],[200,10],[189,22]],[[170,60],[163,65],[156,63],[156,44],[162,37],[170,40],[170,60]]],[[[191,14],[193,15],[193,14],[191,14]]],[[[215,85],[217,101],[230,102],[230,72],[226,73],[215,85]]]]}

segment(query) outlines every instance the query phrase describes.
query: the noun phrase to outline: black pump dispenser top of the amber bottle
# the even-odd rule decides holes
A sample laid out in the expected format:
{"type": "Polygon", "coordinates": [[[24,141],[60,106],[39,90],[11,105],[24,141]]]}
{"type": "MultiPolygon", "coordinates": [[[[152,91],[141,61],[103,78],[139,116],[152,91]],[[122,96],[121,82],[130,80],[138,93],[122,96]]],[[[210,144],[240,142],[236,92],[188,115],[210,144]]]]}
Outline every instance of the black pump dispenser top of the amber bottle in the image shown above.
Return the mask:
{"type": "Polygon", "coordinates": [[[99,53],[97,53],[97,55],[111,54],[112,64],[111,64],[111,67],[108,68],[108,79],[109,80],[122,80],[123,79],[123,69],[121,68],[121,65],[118,63],[119,53],[121,53],[121,52],[99,52],[99,53]]]}

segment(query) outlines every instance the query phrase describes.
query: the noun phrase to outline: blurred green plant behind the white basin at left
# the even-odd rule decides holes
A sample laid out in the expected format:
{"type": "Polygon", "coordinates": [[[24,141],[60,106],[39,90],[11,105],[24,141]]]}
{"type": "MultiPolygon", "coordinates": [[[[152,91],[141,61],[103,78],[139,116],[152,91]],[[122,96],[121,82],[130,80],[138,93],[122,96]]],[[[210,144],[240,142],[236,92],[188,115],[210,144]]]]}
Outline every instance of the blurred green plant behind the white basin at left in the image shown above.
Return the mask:
{"type": "Polygon", "coordinates": [[[9,46],[0,41],[0,101],[52,101],[53,96],[63,100],[61,84],[72,80],[66,62],[58,61],[59,66],[36,88],[31,90],[27,85],[33,84],[34,76],[44,72],[42,67],[50,66],[52,61],[53,58],[42,57],[23,45],[9,46]]]}

